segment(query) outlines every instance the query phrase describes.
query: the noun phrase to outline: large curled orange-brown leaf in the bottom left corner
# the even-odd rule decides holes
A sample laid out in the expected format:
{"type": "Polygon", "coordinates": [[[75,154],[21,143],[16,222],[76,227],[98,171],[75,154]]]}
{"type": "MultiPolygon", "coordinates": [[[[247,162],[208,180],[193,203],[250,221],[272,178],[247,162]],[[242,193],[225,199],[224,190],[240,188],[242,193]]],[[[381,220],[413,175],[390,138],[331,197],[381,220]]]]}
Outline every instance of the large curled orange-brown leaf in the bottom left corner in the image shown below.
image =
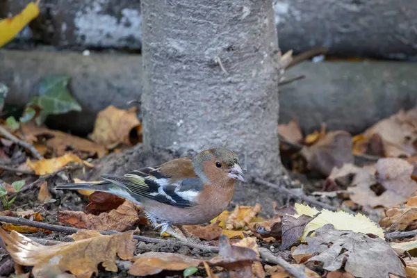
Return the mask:
{"type": "Polygon", "coordinates": [[[98,275],[97,265],[102,263],[108,271],[117,271],[116,254],[120,259],[133,256],[136,240],[133,231],[109,236],[95,236],[72,243],[44,246],[15,231],[9,235],[0,229],[0,236],[10,256],[20,265],[32,266],[33,275],[38,277],[45,265],[56,265],[62,272],[70,271],[80,277],[98,275]]]}

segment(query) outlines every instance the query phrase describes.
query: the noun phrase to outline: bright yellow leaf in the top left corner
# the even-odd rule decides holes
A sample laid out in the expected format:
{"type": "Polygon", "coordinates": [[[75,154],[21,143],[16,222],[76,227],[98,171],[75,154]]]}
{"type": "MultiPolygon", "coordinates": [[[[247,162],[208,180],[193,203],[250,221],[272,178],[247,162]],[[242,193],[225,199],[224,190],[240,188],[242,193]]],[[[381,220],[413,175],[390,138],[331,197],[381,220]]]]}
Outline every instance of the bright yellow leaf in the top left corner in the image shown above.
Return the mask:
{"type": "Polygon", "coordinates": [[[24,26],[38,17],[39,7],[36,3],[28,3],[28,6],[21,13],[12,18],[6,18],[0,21],[0,47],[15,38],[15,35],[22,31],[24,26]]]}

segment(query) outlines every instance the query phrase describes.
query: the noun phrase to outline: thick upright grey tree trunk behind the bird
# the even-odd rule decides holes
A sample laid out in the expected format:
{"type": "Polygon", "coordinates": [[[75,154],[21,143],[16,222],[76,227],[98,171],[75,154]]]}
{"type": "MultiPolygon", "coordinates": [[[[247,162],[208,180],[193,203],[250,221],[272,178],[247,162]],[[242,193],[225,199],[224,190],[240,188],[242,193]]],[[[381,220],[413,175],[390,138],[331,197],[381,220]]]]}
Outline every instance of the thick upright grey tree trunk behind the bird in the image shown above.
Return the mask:
{"type": "Polygon", "coordinates": [[[227,147],[251,176],[281,173],[272,0],[143,0],[145,144],[227,147]]]}

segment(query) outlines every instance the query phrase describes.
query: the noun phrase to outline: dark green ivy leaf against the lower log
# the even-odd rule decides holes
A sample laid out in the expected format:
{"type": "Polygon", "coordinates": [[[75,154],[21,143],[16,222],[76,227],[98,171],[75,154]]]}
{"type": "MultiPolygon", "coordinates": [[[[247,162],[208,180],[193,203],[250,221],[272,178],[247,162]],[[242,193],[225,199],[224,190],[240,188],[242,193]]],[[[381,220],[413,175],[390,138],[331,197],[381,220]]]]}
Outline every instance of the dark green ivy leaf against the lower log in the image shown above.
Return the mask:
{"type": "Polygon", "coordinates": [[[30,105],[42,109],[40,115],[35,119],[38,124],[44,122],[51,114],[81,111],[81,106],[67,88],[69,80],[70,76],[52,74],[40,81],[39,96],[33,97],[29,102],[30,105]]]}

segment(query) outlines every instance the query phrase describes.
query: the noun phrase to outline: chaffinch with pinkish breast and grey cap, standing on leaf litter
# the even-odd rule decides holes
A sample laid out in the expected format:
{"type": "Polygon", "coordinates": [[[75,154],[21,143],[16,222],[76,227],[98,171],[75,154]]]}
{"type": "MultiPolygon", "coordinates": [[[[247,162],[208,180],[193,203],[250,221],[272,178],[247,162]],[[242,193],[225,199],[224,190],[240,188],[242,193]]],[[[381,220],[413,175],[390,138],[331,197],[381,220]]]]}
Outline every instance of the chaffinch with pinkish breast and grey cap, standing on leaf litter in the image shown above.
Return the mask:
{"type": "Polygon", "coordinates": [[[234,196],[236,181],[245,182],[238,156],[214,147],[195,156],[142,167],[122,176],[104,174],[97,183],[67,183],[58,190],[111,193],[142,206],[154,226],[179,240],[195,241],[183,225],[204,224],[224,211],[234,196]],[[178,233],[173,226],[181,231],[178,233]]]}

